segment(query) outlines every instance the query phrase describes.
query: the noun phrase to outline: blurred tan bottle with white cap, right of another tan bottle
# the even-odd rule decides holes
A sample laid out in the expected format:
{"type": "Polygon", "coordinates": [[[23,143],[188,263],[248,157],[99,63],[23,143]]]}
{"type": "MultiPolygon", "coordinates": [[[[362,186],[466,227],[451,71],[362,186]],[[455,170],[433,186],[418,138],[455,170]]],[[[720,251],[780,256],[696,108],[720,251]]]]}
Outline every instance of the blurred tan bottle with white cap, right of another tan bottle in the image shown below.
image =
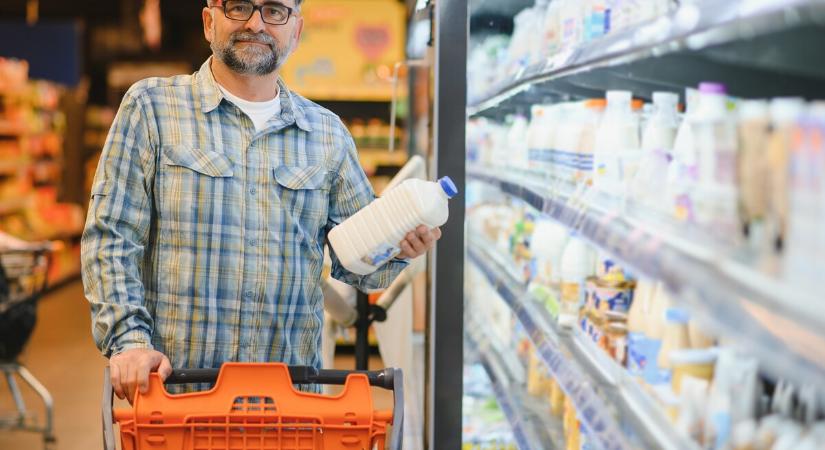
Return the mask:
{"type": "Polygon", "coordinates": [[[773,131],[768,142],[768,228],[780,248],[788,224],[788,155],[793,128],[804,107],[804,100],[790,97],[775,98],[770,105],[773,131]]]}

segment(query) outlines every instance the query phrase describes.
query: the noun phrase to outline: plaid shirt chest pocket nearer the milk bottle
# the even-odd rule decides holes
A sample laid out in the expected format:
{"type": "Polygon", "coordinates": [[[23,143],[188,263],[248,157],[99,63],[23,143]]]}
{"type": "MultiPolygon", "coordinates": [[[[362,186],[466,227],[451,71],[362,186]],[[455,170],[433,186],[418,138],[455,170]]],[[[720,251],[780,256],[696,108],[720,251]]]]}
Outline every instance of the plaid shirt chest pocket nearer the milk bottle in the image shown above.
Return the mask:
{"type": "Polygon", "coordinates": [[[277,166],[272,169],[286,224],[297,228],[312,243],[321,238],[327,221],[327,174],[323,166],[277,166]]]}

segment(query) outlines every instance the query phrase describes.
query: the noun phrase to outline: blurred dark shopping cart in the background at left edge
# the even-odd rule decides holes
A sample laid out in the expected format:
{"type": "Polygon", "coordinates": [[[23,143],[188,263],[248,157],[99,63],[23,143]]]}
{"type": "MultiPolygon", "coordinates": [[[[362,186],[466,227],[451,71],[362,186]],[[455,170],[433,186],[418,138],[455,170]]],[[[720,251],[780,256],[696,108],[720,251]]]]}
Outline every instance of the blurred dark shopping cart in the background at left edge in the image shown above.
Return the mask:
{"type": "Polygon", "coordinates": [[[17,408],[13,416],[0,418],[0,429],[42,433],[46,446],[55,441],[52,396],[17,357],[34,329],[37,300],[46,289],[49,255],[54,248],[53,243],[27,243],[0,233],[0,370],[17,408]],[[43,425],[26,409],[17,377],[43,400],[43,425]]]}

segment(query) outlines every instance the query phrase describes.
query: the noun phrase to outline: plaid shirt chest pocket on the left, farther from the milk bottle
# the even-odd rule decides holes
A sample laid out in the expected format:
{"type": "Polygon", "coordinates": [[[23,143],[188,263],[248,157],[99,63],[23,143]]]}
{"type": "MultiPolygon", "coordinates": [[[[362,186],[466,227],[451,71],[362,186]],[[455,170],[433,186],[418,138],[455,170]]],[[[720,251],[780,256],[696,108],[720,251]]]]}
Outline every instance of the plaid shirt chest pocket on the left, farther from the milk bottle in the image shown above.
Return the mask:
{"type": "Polygon", "coordinates": [[[210,150],[175,145],[161,149],[160,192],[157,199],[161,224],[178,236],[197,238],[211,233],[211,225],[227,215],[227,205],[240,204],[233,183],[233,164],[210,150]]]}

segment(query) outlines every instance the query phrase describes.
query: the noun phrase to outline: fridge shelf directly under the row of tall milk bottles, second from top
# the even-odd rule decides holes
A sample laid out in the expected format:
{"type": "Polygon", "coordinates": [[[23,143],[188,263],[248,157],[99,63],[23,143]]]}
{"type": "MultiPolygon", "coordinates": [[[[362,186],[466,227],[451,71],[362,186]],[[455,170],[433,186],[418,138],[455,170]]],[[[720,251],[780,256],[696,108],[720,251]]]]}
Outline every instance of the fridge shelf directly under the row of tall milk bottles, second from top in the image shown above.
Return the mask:
{"type": "Polygon", "coordinates": [[[522,199],[627,266],[663,281],[700,319],[732,338],[731,345],[759,358],[768,374],[825,393],[825,321],[814,293],[721,257],[727,249],[693,236],[690,227],[645,222],[595,196],[567,195],[525,176],[471,168],[467,178],[522,199]]]}

